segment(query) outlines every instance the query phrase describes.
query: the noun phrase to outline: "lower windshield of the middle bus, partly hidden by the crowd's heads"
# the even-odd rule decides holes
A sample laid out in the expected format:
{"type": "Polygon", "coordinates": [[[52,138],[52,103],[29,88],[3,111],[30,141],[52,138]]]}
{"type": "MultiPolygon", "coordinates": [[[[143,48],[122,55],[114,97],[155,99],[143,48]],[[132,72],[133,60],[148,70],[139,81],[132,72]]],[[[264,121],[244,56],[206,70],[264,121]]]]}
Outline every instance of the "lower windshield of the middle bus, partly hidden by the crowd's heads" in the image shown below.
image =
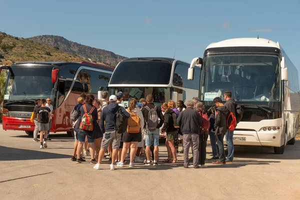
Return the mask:
{"type": "Polygon", "coordinates": [[[157,106],[170,99],[170,88],[167,87],[109,87],[109,94],[116,94],[119,91],[125,95],[123,104],[126,107],[131,98],[135,98],[138,102],[140,98],[146,98],[148,94],[153,95],[153,103],[157,106]]]}

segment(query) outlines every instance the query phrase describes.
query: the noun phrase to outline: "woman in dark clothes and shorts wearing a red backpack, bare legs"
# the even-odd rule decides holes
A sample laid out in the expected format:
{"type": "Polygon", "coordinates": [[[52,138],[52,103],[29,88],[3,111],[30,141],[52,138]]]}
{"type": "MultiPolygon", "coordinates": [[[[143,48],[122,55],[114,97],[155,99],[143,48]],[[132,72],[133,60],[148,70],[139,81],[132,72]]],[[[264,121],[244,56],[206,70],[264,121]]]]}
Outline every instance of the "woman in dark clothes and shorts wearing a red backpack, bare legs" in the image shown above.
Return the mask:
{"type": "Polygon", "coordinates": [[[76,163],[81,163],[81,161],[85,161],[80,157],[80,153],[82,151],[82,147],[85,141],[85,136],[87,136],[88,146],[90,148],[91,160],[90,163],[97,163],[95,160],[95,147],[94,142],[96,138],[103,137],[103,133],[100,130],[98,125],[98,113],[97,109],[92,105],[94,100],[94,95],[88,94],[86,95],[85,104],[83,104],[79,111],[80,116],[75,126],[75,130],[78,136],[78,146],[77,146],[77,159],[76,163]]]}

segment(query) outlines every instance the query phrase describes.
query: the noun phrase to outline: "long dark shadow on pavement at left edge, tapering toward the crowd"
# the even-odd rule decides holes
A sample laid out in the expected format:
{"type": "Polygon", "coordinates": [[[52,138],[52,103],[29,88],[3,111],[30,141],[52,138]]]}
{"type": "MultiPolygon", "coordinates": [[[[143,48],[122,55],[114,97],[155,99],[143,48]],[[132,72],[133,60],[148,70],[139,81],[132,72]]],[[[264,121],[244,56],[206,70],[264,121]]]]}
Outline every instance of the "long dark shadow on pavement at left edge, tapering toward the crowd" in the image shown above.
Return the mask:
{"type": "Polygon", "coordinates": [[[69,158],[70,155],[50,153],[45,151],[28,150],[21,148],[11,148],[0,146],[0,161],[3,160],[29,160],[29,159],[55,159],[69,158]]]}

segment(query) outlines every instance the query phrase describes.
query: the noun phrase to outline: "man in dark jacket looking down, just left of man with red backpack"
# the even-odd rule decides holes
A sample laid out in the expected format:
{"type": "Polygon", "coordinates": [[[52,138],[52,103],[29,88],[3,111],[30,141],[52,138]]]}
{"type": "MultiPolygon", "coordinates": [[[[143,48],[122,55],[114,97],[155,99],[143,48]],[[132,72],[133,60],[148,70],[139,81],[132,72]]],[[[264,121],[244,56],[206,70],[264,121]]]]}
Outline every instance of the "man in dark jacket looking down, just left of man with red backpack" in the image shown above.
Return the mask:
{"type": "Polygon", "coordinates": [[[213,103],[217,107],[215,109],[215,134],[217,135],[217,145],[219,147],[219,159],[213,164],[225,164],[226,156],[224,150],[224,135],[227,132],[227,116],[229,114],[228,108],[222,103],[222,99],[220,97],[215,97],[213,99],[213,103]]]}

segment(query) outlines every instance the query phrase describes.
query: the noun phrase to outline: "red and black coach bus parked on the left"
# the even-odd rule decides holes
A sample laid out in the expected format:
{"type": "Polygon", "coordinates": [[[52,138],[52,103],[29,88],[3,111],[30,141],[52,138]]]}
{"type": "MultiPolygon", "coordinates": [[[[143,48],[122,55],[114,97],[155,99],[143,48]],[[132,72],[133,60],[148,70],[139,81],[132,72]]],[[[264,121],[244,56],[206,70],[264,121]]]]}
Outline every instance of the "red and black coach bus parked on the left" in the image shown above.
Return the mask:
{"type": "Polygon", "coordinates": [[[3,100],[3,129],[33,134],[30,122],[36,98],[51,98],[53,114],[50,131],[66,131],[69,115],[81,93],[97,95],[98,85],[108,85],[112,67],[90,62],[18,62],[9,69],[3,100]]]}

